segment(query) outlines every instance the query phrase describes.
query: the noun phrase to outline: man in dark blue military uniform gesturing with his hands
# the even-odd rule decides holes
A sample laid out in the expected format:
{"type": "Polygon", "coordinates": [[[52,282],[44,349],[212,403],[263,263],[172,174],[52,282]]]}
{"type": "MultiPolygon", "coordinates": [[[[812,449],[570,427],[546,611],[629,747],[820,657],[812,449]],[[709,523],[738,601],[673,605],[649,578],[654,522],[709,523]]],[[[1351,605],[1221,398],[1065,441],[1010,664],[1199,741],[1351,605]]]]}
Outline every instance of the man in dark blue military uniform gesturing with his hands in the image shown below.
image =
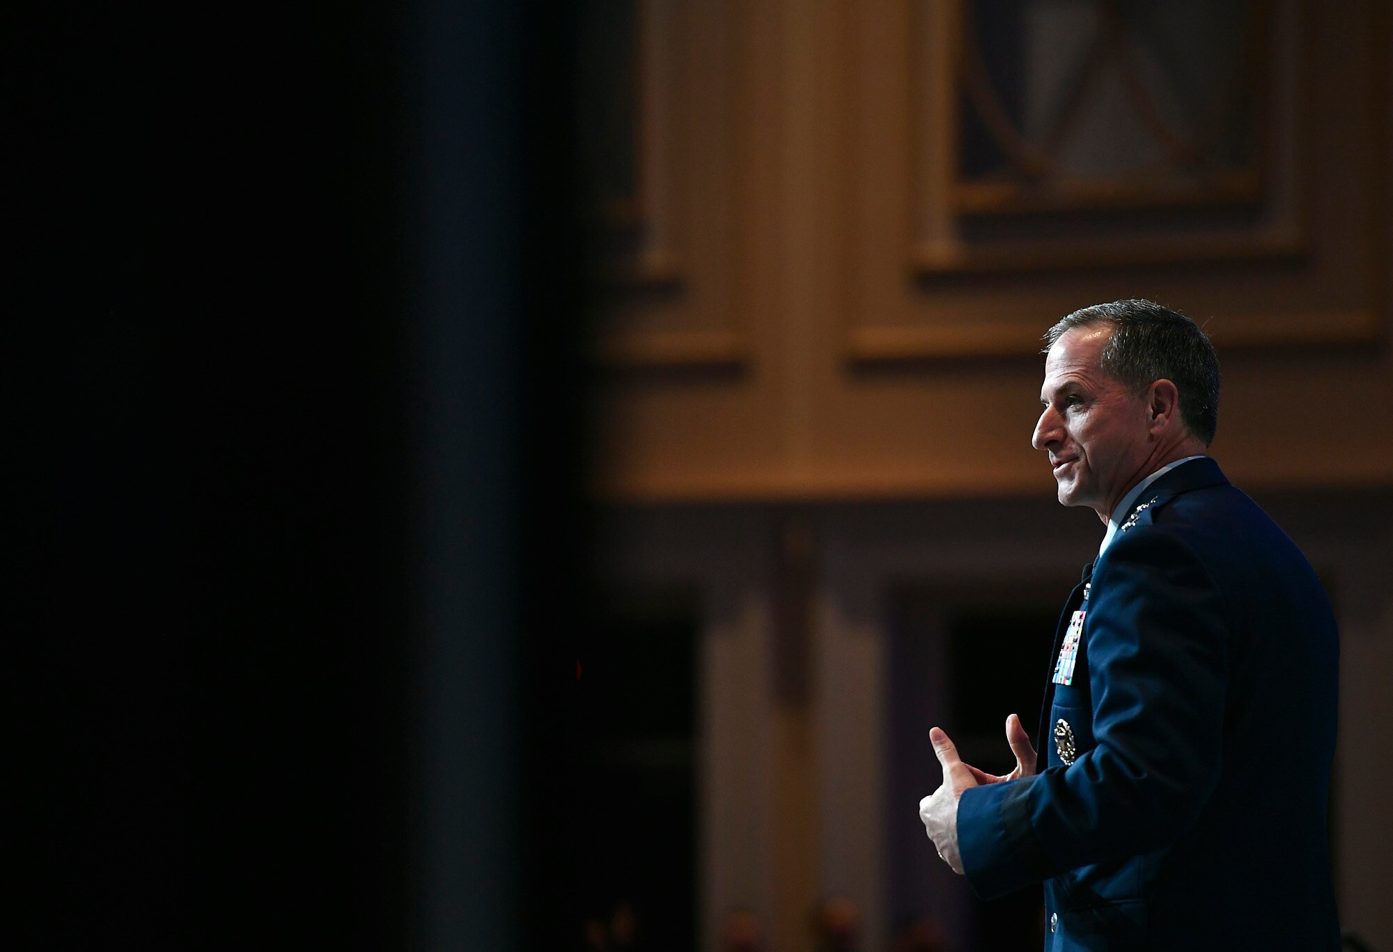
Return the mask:
{"type": "Polygon", "coordinates": [[[1043,881],[1050,951],[1336,949],[1334,618],[1204,455],[1213,348],[1149,301],[1074,312],[1046,340],[1032,444],[1059,501],[1107,529],[1055,636],[1043,760],[1014,714],[1007,777],[933,728],[925,830],[985,899],[1043,881]]]}

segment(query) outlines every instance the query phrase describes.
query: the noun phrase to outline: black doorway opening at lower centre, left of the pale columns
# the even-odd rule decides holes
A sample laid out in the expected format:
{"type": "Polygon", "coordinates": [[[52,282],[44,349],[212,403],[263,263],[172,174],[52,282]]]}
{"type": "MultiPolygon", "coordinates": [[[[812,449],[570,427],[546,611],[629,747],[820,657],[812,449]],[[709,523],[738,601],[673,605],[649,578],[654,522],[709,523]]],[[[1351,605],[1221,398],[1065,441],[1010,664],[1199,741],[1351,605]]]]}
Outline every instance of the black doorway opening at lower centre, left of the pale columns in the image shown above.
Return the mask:
{"type": "Polygon", "coordinates": [[[698,626],[681,593],[617,594],[581,644],[566,888],[577,939],[584,924],[610,949],[695,948],[698,626]]]}

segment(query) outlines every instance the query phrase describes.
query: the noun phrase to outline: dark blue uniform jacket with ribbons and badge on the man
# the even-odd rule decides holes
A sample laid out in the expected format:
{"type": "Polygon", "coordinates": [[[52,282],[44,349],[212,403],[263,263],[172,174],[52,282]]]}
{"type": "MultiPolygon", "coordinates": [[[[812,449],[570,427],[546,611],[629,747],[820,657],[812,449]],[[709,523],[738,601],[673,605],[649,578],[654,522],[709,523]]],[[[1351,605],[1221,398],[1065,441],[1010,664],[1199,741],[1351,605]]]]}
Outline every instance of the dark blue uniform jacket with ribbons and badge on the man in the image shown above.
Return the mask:
{"type": "Polygon", "coordinates": [[[1050,951],[1336,949],[1325,590],[1212,459],[1137,502],[1060,619],[1052,675],[1087,612],[1073,682],[1046,688],[1042,772],[958,802],[968,882],[1043,881],[1050,951]]]}

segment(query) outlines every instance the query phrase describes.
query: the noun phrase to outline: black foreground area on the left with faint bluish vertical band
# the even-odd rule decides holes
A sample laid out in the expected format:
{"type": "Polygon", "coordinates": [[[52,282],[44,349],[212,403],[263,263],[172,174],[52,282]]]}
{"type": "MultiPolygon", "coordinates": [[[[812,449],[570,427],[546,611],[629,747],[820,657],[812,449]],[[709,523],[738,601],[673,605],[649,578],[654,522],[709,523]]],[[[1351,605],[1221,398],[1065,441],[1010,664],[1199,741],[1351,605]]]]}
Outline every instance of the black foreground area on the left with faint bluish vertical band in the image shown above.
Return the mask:
{"type": "MultiPolygon", "coordinates": [[[[465,597],[456,621],[507,701],[481,728],[507,747],[489,779],[520,862],[467,859],[447,933],[554,948],[564,857],[524,818],[566,785],[560,607],[584,592],[573,25],[506,3],[31,7],[4,40],[11,948],[439,934],[432,571],[513,612],[474,625],[465,597]],[[450,255],[467,306],[432,359],[450,255]],[[451,386],[461,512],[423,527],[426,395],[451,386]],[[471,887],[499,875],[513,906],[481,916],[471,887]]],[[[468,789],[483,768],[453,764],[468,789]]]]}

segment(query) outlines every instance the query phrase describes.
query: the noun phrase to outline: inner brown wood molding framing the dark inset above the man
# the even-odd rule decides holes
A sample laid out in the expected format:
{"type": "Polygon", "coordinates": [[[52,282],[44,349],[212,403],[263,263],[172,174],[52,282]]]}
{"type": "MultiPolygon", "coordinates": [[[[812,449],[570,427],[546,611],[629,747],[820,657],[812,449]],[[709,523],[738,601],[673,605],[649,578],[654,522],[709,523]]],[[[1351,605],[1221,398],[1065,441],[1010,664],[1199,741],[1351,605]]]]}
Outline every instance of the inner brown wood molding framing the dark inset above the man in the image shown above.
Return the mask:
{"type": "MultiPolygon", "coordinates": [[[[1119,269],[1137,264],[1287,259],[1308,245],[1302,209],[1309,193],[1300,129],[1308,109],[1308,43],[1297,0],[1261,17],[1258,31],[1270,49],[1258,63],[1280,63],[1280,75],[1263,78],[1258,160],[1251,168],[1209,174],[1197,182],[1180,168],[1123,178],[1068,175],[1038,185],[1018,175],[964,180],[957,174],[964,0],[919,0],[910,32],[919,38],[907,75],[917,95],[911,106],[914,164],[907,187],[917,220],[907,249],[915,274],[1000,274],[1056,269],[1119,269]],[[914,21],[918,22],[914,22],[914,21]],[[1250,209],[1236,224],[1231,209],[1250,209]],[[1139,212],[1131,227],[1119,213],[1139,212]],[[1156,214],[1165,216],[1158,221],[1156,214]],[[1009,223],[1029,219],[1022,232],[1009,223]],[[1045,225],[1056,223],[1057,227],[1045,225]],[[1006,227],[1003,227],[1006,225],[1006,227]]],[[[1255,67],[1258,68],[1258,67],[1255,67]]]]}

